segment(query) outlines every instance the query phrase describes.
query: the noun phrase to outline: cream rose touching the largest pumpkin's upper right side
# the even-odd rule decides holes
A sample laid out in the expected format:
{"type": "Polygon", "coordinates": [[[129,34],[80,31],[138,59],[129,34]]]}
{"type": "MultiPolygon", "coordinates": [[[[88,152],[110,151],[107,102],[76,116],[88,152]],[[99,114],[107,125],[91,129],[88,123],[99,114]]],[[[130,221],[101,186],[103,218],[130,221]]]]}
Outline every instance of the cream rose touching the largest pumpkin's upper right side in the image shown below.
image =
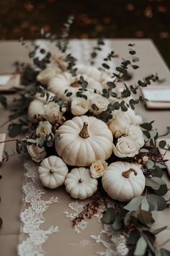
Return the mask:
{"type": "Polygon", "coordinates": [[[112,134],[117,138],[126,135],[127,129],[131,124],[129,116],[125,113],[123,111],[118,112],[108,125],[112,134]]]}

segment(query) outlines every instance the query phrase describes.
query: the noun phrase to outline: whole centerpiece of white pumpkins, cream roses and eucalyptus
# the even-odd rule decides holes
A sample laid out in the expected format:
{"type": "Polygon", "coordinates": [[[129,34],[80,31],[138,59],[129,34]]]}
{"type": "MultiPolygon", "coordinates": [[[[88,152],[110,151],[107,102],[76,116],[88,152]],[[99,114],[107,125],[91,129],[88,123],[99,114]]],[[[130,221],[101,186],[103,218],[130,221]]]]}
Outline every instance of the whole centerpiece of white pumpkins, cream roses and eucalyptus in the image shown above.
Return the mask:
{"type": "MultiPolygon", "coordinates": [[[[59,38],[41,31],[55,42],[61,55],[32,43],[33,65],[17,63],[27,87],[11,118],[26,113],[27,120],[10,124],[9,135],[28,130],[30,135],[16,140],[16,153],[30,155],[39,163],[38,174],[45,187],[64,185],[71,197],[80,200],[95,194],[95,207],[88,205],[73,225],[91,218],[97,212],[97,201],[102,198],[107,204],[109,197],[119,207],[107,208],[102,221],[125,234],[128,255],[169,255],[156,246],[156,234],[166,227],[151,227],[156,211],[169,206],[163,197],[168,190],[162,179],[164,161],[158,153],[158,148],[169,150],[169,145],[164,140],[157,142],[153,122],[143,123],[134,111],[136,104],[145,101],[139,89],[156,82],[158,75],[128,85],[128,69],[138,69],[134,44],[128,45],[129,57],[115,70],[110,69],[118,58],[114,51],[101,60],[101,67],[95,67],[104,45],[101,39],[91,52],[91,63],[77,63],[68,50],[71,23],[69,17],[59,38]]],[[[24,40],[22,44],[28,48],[24,40]]]]}

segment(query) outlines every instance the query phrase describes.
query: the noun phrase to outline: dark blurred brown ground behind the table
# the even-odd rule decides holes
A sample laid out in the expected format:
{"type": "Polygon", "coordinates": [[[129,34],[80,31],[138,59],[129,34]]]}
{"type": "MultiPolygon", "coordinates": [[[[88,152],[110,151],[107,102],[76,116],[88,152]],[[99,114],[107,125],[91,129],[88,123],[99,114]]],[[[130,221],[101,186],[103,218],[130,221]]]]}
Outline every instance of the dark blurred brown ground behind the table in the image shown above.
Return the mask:
{"type": "Polygon", "coordinates": [[[71,38],[151,38],[170,67],[170,0],[0,0],[0,39],[58,33],[74,14],[71,38]]]}

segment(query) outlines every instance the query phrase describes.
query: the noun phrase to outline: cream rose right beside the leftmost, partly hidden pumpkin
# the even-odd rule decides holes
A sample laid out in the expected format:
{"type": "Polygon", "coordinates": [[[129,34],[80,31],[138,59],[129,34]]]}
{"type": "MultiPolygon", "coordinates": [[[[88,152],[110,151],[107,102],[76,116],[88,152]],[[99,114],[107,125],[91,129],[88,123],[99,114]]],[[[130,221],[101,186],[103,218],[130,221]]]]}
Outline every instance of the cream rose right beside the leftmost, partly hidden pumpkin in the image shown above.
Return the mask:
{"type": "Polygon", "coordinates": [[[63,113],[61,114],[58,103],[51,101],[45,105],[45,113],[43,116],[46,120],[50,121],[51,124],[55,124],[61,118],[61,115],[63,115],[63,113]]]}

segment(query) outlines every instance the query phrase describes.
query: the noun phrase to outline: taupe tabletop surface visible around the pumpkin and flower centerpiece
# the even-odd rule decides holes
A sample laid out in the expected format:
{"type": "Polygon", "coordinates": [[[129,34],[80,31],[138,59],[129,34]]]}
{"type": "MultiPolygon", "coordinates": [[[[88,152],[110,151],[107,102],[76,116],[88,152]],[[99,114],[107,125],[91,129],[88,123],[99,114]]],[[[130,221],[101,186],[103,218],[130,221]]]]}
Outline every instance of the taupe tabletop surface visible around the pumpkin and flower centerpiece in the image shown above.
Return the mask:
{"type": "MultiPolygon", "coordinates": [[[[44,43],[45,47],[49,47],[48,43],[42,43],[44,43]]],[[[140,58],[141,68],[134,73],[133,81],[138,81],[138,79],[148,75],[149,71],[153,73],[158,72],[159,77],[166,78],[164,85],[170,85],[169,69],[161,59],[161,56],[158,54],[158,51],[151,40],[107,40],[105,53],[107,54],[112,49],[120,56],[127,56],[128,43],[135,43],[140,58]]],[[[89,52],[93,45],[94,40],[73,40],[71,42],[71,51],[73,51],[73,54],[80,61],[86,63],[89,60],[89,52]]],[[[27,58],[26,49],[22,48],[20,43],[16,41],[2,41],[0,43],[0,56],[1,73],[13,72],[14,67],[12,64],[14,61],[30,61],[27,58]]],[[[9,99],[12,99],[12,96],[9,96],[9,99]]],[[[144,119],[148,119],[148,121],[155,120],[155,127],[157,127],[160,134],[164,134],[166,132],[166,127],[170,126],[169,111],[146,111],[143,106],[140,106],[138,108],[138,113],[140,113],[144,119]]],[[[0,106],[0,114],[0,123],[3,124],[4,121],[6,121],[9,112],[0,106]]],[[[6,132],[6,129],[7,125],[2,127],[0,132],[6,132]]],[[[12,152],[12,143],[6,143],[5,148],[9,153],[10,151],[12,152]]],[[[13,157],[1,166],[0,173],[3,176],[0,181],[0,213],[1,218],[4,221],[4,225],[0,231],[1,255],[13,256],[17,255],[20,230],[22,232],[22,229],[20,229],[22,223],[19,221],[19,213],[22,208],[23,163],[16,157],[13,157]]],[[[40,227],[42,230],[47,231],[51,226],[53,226],[54,229],[58,226],[58,231],[57,228],[53,230],[56,231],[55,233],[51,231],[53,234],[49,234],[48,239],[42,244],[42,249],[46,252],[46,255],[95,255],[95,252],[105,251],[106,247],[104,247],[104,245],[97,243],[97,239],[91,239],[90,237],[90,235],[99,235],[102,229],[102,224],[97,222],[97,218],[92,218],[90,221],[88,220],[86,229],[81,230],[80,228],[81,233],[79,233],[74,231],[70,219],[66,217],[70,216],[71,218],[71,213],[75,213],[76,210],[79,210],[78,206],[80,207],[81,202],[79,202],[79,205],[76,205],[76,202],[73,204],[73,199],[71,199],[62,188],[55,191],[48,190],[47,193],[42,195],[42,200],[47,202],[50,200],[50,197],[54,198],[54,202],[47,204],[48,209],[43,214],[46,221],[42,223],[40,227]],[[55,202],[56,197],[58,197],[58,202],[55,202]]],[[[29,205],[25,205],[24,207],[29,208],[29,205]]],[[[170,225],[169,213],[170,211],[168,209],[159,213],[156,227],[170,225]]],[[[159,235],[158,243],[161,244],[169,236],[170,230],[167,229],[159,235]]],[[[22,236],[20,236],[20,238],[22,239],[22,236]]],[[[170,249],[170,243],[167,243],[165,247],[170,249]]],[[[40,254],[41,252],[38,253],[39,256],[43,255],[43,252],[42,254],[40,254]]]]}

